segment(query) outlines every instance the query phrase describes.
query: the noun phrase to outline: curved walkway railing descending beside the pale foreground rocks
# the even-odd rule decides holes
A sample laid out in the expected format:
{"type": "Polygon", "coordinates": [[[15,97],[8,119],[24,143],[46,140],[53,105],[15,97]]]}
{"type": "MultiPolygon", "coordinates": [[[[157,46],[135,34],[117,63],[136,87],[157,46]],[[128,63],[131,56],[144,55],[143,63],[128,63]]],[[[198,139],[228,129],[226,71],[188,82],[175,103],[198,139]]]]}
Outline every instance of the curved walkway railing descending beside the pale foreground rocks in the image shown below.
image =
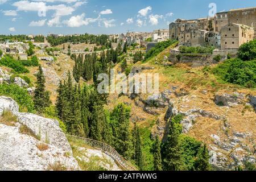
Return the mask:
{"type": "Polygon", "coordinates": [[[114,150],[113,147],[109,146],[106,143],[99,142],[97,140],[89,139],[89,138],[82,138],[82,137],[76,137],[73,135],[69,135],[69,137],[81,139],[85,142],[85,144],[88,144],[88,146],[98,148],[102,151],[104,151],[107,155],[111,156],[115,162],[119,164],[123,169],[126,171],[138,171],[137,168],[135,168],[132,164],[127,162],[121,155],[118,154],[116,150],[114,150]]]}

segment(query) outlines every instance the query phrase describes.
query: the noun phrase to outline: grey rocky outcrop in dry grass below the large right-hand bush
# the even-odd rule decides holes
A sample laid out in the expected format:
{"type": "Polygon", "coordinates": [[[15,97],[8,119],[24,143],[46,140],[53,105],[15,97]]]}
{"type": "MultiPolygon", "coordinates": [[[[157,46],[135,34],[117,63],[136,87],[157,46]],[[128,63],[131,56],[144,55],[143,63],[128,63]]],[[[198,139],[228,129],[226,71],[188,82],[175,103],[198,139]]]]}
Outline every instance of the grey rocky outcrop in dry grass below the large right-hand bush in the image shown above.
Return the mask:
{"type": "Polygon", "coordinates": [[[233,93],[231,94],[216,94],[214,98],[215,104],[218,106],[232,107],[234,105],[242,104],[242,100],[245,99],[245,94],[233,93]]]}

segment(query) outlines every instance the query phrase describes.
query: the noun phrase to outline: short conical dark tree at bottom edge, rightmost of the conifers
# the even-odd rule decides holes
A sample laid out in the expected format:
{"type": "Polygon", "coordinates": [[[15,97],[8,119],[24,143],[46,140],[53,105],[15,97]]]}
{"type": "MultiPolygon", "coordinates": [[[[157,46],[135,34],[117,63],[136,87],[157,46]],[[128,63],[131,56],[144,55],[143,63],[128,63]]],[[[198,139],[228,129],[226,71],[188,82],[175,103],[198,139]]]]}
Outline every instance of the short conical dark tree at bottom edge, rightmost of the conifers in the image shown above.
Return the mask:
{"type": "Polygon", "coordinates": [[[206,144],[200,148],[196,160],[194,163],[194,169],[196,171],[209,171],[210,164],[209,164],[209,153],[206,144]]]}

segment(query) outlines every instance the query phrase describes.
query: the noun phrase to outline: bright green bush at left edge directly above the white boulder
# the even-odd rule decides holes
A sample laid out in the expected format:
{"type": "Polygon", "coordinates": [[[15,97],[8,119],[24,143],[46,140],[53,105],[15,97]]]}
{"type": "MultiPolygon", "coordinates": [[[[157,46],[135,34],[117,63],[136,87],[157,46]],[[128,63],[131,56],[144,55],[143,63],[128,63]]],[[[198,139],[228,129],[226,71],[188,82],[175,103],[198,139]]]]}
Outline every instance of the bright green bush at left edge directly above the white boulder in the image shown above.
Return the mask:
{"type": "Polygon", "coordinates": [[[2,84],[0,85],[0,95],[13,98],[20,106],[20,110],[34,113],[34,102],[26,89],[14,84],[2,84]]]}

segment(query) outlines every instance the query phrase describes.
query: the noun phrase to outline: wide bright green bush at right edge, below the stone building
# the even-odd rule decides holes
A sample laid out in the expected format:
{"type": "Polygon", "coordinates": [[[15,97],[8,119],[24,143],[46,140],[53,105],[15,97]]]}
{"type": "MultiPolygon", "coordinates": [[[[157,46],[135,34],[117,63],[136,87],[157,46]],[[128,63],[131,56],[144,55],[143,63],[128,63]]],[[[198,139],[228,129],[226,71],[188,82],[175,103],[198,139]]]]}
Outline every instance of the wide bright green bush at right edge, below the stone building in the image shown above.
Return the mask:
{"type": "Polygon", "coordinates": [[[226,60],[214,68],[213,73],[232,84],[246,86],[247,88],[255,88],[256,86],[256,60],[226,60]]]}

